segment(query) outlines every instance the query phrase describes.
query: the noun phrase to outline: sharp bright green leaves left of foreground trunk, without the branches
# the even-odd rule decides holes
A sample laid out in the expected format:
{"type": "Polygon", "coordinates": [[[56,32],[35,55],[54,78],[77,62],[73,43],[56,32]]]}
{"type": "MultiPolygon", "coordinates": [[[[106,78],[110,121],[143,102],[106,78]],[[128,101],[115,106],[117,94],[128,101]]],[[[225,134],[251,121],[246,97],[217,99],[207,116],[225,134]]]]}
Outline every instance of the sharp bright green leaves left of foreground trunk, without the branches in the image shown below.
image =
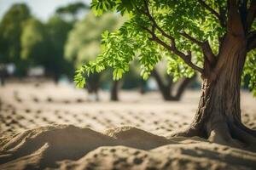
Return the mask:
{"type": "MultiPolygon", "coordinates": [[[[205,16],[206,14],[204,14],[205,11],[201,9],[200,5],[195,2],[195,4],[192,4],[191,1],[190,5],[194,6],[194,8],[186,9],[184,12],[183,9],[186,8],[186,6],[183,6],[183,3],[184,2],[180,1],[173,1],[172,3],[154,1],[150,3],[150,8],[154,11],[154,19],[157,20],[159,25],[177,39],[177,48],[183,51],[193,50],[193,53],[196,54],[195,63],[201,65],[200,49],[182,37],[179,32],[183,31],[183,28],[186,27],[187,30],[193,31],[195,37],[203,39],[206,37],[206,35],[203,35],[202,29],[204,29],[207,30],[207,36],[211,37],[212,42],[214,42],[217,33],[208,30],[212,30],[212,26],[220,30],[220,26],[218,26],[216,20],[212,20],[212,23],[206,22],[207,17],[205,16]],[[177,8],[172,8],[173,5],[177,6],[177,8]],[[193,14],[192,17],[196,17],[197,20],[190,20],[191,14],[193,14]],[[174,22],[175,20],[177,22],[174,22]],[[204,25],[202,25],[202,23],[204,23],[204,25]]],[[[168,60],[167,71],[172,73],[176,79],[182,76],[193,76],[194,71],[190,69],[188,65],[185,65],[182,59],[178,59],[174,54],[166,52],[159,44],[148,40],[148,32],[145,31],[143,27],[149,26],[150,20],[137,10],[142,4],[143,1],[133,1],[129,3],[118,3],[118,1],[92,2],[92,8],[96,11],[96,14],[102,14],[104,11],[108,10],[116,10],[121,14],[129,14],[130,20],[125,22],[119,31],[113,33],[106,31],[102,35],[102,42],[105,49],[103,53],[97,57],[95,62],[84,65],[79,71],[83,70],[84,73],[90,74],[92,71],[102,71],[107,66],[110,66],[114,69],[113,78],[119,79],[125,71],[129,71],[131,60],[137,58],[142,65],[141,75],[144,79],[147,79],[154,65],[163,57],[166,57],[168,60]]],[[[160,34],[160,32],[156,34],[160,34]]],[[[79,79],[79,75],[80,74],[76,77],[76,80],[79,79]]]]}

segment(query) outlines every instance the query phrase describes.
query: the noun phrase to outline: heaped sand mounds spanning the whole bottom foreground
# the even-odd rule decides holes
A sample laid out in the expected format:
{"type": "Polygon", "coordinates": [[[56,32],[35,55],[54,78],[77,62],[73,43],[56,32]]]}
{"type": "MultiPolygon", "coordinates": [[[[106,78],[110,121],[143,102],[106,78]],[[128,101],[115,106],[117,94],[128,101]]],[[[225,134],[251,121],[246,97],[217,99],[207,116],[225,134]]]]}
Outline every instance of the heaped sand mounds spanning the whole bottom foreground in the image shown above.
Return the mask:
{"type": "Polygon", "coordinates": [[[256,154],[135,127],[38,127],[2,138],[0,169],[253,169],[256,154]],[[122,145],[122,146],[121,146],[122,145]]]}

